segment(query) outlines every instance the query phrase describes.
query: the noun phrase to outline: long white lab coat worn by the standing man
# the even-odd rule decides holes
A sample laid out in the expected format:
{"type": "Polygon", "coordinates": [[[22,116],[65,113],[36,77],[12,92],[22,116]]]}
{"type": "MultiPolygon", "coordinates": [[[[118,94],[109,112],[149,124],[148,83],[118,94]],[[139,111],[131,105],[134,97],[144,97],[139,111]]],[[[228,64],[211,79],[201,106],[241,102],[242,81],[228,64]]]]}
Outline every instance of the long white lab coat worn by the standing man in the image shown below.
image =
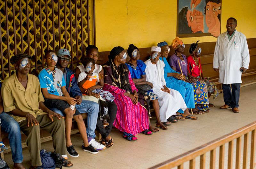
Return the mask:
{"type": "Polygon", "coordinates": [[[249,48],[243,33],[236,30],[230,41],[227,32],[219,35],[213,56],[213,68],[219,69],[220,83],[242,83],[239,69],[242,66],[248,69],[249,62],[249,48]]]}

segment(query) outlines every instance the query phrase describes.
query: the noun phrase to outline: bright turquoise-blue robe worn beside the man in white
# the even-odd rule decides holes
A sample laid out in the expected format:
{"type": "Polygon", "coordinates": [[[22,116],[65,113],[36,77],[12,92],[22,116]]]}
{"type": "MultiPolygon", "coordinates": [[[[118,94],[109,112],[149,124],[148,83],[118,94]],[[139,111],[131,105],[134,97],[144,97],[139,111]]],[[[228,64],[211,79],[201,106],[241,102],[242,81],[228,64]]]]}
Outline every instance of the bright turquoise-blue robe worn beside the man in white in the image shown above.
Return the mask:
{"type": "MultiPolygon", "coordinates": [[[[189,83],[184,82],[183,80],[178,80],[175,77],[167,77],[167,73],[178,72],[171,68],[165,57],[164,60],[162,59],[162,57],[160,57],[160,60],[164,61],[165,64],[164,79],[166,82],[166,86],[179,91],[188,108],[195,108],[193,87],[189,83]]],[[[184,113],[184,111],[182,111],[181,109],[178,110],[178,112],[184,113]]]]}

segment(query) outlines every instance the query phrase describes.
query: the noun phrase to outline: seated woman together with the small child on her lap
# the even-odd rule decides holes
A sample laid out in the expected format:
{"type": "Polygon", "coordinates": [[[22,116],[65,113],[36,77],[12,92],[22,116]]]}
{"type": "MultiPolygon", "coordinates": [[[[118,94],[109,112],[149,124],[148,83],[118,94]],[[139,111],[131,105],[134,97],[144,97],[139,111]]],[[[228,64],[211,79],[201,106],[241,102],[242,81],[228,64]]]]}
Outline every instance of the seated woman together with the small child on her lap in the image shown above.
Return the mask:
{"type": "Polygon", "coordinates": [[[84,58],[83,64],[77,66],[75,69],[75,77],[83,93],[83,99],[94,100],[96,102],[102,99],[107,102],[109,119],[102,121],[98,118],[96,130],[98,130],[102,136],[100,139],[101,143],[106,147],[111,147],[114,143],[109,133],[116,118],[117,107],[113,101],[113,95],[102,90],[104,72],[101,65],[95,64],[95,62],[98,61],[98,55],[98,48],[94,45],[89,45],[86,48],[86,57],[84,58]]]}

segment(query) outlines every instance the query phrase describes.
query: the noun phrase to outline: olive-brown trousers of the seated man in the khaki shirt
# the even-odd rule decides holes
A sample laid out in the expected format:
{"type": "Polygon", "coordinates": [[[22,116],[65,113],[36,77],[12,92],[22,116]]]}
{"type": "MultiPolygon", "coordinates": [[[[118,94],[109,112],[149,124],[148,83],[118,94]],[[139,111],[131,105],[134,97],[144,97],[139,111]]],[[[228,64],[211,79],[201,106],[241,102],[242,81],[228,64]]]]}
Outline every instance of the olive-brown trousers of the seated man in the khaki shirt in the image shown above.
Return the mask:
{"type": "Polygon", "coordinates": [[[40,158],[40,129],[44,129],[49,132],[52,136],[53,148],[56,153],[60,155],[67,154],[66,148],[66,138],[65,138],[65,121],[64,119],[58,119],[56,117],[52,117],[53,121],[50,120],[48,115],[37,115],[36,120],[39,123],[39,126],[31,126],[28,127],[28,121],[21,121],[20,130],[28,136],[26,140],[26,144],[28,146],[28,150],[30,152],[30,161],[32,166],[41,166],[41,158],[40,158]]]}

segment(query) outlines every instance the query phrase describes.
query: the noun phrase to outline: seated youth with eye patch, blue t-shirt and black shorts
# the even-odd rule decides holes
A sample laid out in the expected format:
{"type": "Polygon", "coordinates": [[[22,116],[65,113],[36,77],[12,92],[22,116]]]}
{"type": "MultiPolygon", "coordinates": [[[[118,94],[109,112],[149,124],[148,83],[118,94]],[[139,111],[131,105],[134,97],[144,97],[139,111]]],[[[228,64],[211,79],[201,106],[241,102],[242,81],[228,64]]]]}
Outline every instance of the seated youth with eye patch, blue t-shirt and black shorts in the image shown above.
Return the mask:
{"type": "Polygon", "coordinates": [[[67,151],[71,157],[78,157],[74,145],[71,143],[71,126],[72,118],[77,122],[79,132],[83,138],[84,144],[82,148],[84,151],[88,151],[92,154],[97,154],[98,151],[94,149],[92,145],[89,145],[86,135],[86,128],[83,121],[83,117],[80,112],[75,108],[78,100],[70,97],[66,90],[66,82],[63,77],[63,72],[55,67],[58,61],[56,53],[49,50],[44,55],[44,62],[46,67],[40,71],[38,78],[40,81],[42,93],[45,98],[45,105],[49,108],[57,108],[62,111],[65,117],[66,123],[66,144],[67,151]]]}

